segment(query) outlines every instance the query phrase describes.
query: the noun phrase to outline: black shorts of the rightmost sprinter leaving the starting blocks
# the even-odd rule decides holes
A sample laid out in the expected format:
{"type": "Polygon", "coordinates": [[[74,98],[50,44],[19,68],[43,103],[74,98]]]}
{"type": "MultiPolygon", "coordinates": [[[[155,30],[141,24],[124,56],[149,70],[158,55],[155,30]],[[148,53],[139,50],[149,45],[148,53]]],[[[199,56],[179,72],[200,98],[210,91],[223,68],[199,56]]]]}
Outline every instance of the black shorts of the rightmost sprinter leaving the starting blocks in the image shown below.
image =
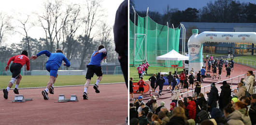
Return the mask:
{"type": "Polygon", "coordinates": [[[91,79],[94,74],[96,74],[97,76],[103,75],[101,66],[87,65],[87,72],[85,78],[91,79]]]}

